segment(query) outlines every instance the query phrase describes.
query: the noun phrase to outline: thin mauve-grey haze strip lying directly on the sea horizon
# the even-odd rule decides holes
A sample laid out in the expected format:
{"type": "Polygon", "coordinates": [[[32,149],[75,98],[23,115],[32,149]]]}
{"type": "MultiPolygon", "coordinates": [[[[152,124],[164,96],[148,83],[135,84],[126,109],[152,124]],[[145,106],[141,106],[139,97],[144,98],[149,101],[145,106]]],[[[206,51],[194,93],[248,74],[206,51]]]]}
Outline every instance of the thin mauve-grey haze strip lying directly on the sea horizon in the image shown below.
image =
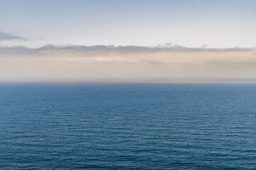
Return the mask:
{"type": "Polygon", "coordinates": [[[5,78],[0,84],[256,84],[256,78],[209,78],[209,77],[99,77],[99,78],[5,78]]]}

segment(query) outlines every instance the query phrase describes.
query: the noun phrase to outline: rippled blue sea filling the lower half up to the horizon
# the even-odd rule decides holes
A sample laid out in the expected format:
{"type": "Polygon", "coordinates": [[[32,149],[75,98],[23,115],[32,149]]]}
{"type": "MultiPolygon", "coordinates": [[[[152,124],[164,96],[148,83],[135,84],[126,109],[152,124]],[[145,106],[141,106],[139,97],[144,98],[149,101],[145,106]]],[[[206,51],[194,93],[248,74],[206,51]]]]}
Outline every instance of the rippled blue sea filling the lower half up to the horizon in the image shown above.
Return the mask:
{"type": "Polygon", "coordinates": [[[0,169],[256,169],[256,85],[0,84],[0,169]]]}

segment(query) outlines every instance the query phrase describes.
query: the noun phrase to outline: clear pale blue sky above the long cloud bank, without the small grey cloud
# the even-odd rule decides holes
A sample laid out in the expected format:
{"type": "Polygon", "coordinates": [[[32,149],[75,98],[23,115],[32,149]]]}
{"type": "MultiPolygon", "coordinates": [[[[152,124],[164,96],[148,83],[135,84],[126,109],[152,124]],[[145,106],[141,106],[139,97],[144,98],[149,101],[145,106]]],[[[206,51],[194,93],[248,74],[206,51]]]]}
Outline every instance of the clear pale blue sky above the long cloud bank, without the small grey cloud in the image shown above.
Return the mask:
{"type": "Polygon", "coordinates": [[[255,47],[254,0],[0,0],[0,31],[45,44],[255,47]]]}

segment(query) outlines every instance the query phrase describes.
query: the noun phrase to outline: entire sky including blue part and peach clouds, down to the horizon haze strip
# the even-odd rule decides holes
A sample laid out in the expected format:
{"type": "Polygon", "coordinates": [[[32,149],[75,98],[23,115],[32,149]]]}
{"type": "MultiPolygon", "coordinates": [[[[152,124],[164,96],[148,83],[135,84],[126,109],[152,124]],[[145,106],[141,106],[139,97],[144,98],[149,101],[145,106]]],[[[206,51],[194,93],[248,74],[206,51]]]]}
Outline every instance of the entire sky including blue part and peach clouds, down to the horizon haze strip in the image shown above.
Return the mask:
{"type": "Polygon", "coordinates": [[[254,0],[0,0],[0,81],[254,78],[255,7],[254,0]]]}

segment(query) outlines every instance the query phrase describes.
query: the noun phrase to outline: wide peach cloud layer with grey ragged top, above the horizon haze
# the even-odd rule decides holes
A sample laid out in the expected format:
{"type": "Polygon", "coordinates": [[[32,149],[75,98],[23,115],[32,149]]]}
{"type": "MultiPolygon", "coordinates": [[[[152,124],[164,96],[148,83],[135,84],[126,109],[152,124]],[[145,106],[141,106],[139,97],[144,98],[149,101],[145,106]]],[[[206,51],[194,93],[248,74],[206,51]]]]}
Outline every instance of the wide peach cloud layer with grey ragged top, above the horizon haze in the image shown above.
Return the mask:
{"type": "Polygon", "coordinates": [[[255,48],[178,45],[0,47],[0,79],[255,78],[255,48]]]}

